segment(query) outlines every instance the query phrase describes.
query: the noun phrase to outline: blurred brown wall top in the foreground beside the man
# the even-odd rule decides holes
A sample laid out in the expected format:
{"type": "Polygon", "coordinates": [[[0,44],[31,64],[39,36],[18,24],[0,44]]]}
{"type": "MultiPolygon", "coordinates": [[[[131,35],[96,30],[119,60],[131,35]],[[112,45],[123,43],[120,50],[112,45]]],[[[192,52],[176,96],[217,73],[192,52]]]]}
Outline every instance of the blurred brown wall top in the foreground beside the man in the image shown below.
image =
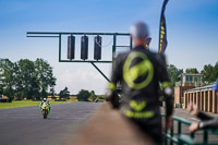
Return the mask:
{"type": "Polygon", "coordinates": [[[155,145],[119,111],[104,104],[75,136],[73,145],[155,145]]]}

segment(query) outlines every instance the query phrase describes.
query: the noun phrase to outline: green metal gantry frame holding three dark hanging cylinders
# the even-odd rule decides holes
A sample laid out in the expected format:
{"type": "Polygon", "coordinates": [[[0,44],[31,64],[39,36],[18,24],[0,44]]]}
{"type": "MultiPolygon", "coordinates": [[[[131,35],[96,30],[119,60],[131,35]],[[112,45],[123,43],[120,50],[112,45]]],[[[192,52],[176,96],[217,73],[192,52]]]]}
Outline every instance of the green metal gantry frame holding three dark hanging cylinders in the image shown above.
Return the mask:
{"type": "Polygon", "coordinates": [[[74,62],[74,63],[90,63],[108,82],[110,80],[104,74],[104,72],[95,64],[95,63],[111,63],[112,61],[98,61],[98,60],[65,60],[61,58],[61,37],[63,35],[107,35],[107,36],[113,36],[113,43],[112,43],[112,61],[114,59],[114,53],[117,50],[117,47],[129,47],[132,49],[132,37],[129,33],[56,33],[56,32],[27,32],[26,37],[43,37],[43,38],[59,38],[59,62],[74,62]],[[117,37],[118,36],[129,36],[130,37],[130,46],[117,46],[117,37]]]}

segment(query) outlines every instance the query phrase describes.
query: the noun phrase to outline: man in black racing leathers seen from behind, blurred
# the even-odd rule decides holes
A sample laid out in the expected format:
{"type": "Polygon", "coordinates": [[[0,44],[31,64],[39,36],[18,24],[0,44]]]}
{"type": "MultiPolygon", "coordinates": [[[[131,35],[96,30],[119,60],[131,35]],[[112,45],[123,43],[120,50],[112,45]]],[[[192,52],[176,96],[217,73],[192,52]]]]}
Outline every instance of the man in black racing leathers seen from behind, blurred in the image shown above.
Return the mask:
{"type": "Polygon", "coordinates": [[[144,133],[159,145],[162,144],[161,116],[159,110],[159,84],[167,105],[166,126],[172,125],[172,88],[162,53],[148,50],[148,27],[138,22],[131,26],[134,49],[119,55],[112,69],[111,82],[106,94],[113,108],[137,124],[144,133]],[[122,86],[122,101],[117,95],[117,84],[122,86]]]}

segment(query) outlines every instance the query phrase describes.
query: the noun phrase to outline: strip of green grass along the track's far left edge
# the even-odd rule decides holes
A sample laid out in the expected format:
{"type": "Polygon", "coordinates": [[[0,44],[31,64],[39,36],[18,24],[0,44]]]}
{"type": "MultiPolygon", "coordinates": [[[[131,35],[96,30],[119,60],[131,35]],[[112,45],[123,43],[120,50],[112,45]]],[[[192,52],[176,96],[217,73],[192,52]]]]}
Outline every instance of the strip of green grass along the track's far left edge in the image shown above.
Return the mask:
{"type": "MultiPolygon", "coordinates": [[[[53,101],[51,100],[51,106],[55,104],[65,104],[68,101],[53,101]]],[[[16,100],[12,102],[0,102],[0,109],[7,108],[17,108],[17,107],[27,107],[27,106],[39,106],[40,101],[33,101],[33,100],[16,100]]]]}

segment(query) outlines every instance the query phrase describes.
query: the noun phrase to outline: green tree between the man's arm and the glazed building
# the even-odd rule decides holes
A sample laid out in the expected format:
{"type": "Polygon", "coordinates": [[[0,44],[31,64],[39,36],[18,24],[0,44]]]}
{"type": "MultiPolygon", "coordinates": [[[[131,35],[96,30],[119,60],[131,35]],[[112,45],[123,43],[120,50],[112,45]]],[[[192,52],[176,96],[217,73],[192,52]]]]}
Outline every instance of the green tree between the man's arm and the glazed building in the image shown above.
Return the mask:
{"type": "Polygon", "coordinates": [[[181,75],[183,73],[182,69],[178,69],[173,64],[168,65],[168,73],[171,78],[171,85],[175,86],[175,82],[181,81],[181,75]]]}

